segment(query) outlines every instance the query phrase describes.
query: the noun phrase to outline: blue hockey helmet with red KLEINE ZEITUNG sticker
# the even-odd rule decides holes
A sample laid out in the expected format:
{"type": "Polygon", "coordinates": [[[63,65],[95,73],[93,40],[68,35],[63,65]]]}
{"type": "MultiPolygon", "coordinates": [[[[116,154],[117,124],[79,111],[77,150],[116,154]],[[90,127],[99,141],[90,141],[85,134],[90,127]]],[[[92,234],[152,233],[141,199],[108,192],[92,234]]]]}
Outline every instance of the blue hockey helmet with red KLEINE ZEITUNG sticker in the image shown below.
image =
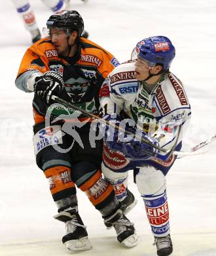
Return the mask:
{"type": "Polygon", "coordinates": [[[148,60],[150,64],[163,64],[163,70],[170,68],[171,61],[175,58],[175,47],[168,37],[162,35],[148,37],[139,41],[135,51],[137,56],[148,60]]]}

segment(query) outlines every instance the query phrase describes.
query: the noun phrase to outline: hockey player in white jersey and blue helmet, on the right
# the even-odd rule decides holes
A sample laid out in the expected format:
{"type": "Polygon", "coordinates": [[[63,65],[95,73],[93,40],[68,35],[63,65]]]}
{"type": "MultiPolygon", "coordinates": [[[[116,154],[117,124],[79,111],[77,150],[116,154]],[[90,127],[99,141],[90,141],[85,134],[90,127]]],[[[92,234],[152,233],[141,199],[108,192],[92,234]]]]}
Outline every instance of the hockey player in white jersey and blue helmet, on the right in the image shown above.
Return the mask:
{"type": "Polygon", "coordinates": [[[132,55],[135,61],[120,64],[107,77],[101,106],[104,119],[139,136],[101,125],[105,138],[102,171],[122,207],[130,208],[135,199],[127,188],[127,177],[134,169],[157,253],[166,256],[172,253],[173,245],[165,176],[176,157],[151,145],[167,151],[181,149],[190,104],[181,81],[169,70],[175,57],[170,39],[143,39],[132,55]],[[151,144],[141,142],[140,137],[151,144]]]}

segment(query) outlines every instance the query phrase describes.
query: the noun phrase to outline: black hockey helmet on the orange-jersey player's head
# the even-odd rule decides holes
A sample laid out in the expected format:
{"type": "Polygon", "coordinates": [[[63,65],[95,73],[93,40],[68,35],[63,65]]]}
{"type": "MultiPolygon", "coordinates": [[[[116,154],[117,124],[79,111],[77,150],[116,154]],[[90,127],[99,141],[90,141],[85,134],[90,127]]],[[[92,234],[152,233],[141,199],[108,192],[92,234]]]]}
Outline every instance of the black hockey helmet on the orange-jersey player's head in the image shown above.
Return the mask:
{"type": "Polygon", "coordinates": [[[59,28],[67,32],[77,31],[78,37],[84,30],[84,23],[77,11],[60,11],[52,14],[46,22],[47,28],[59,28]]]}

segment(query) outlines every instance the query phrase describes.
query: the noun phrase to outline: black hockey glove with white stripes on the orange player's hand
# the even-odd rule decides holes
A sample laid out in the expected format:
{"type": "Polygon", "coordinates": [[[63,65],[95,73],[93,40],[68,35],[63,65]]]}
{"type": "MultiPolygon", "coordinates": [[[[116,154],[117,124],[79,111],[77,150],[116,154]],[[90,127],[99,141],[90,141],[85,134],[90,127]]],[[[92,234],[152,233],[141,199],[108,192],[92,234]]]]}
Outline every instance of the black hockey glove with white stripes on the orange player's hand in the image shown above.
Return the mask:
{"type": "Polygon", "coordinates": [[[35,78],[35,93],[50,104],[52,95],[60,95],[63,89],[63,78],[56,72],[48,71],[35,78]]]}

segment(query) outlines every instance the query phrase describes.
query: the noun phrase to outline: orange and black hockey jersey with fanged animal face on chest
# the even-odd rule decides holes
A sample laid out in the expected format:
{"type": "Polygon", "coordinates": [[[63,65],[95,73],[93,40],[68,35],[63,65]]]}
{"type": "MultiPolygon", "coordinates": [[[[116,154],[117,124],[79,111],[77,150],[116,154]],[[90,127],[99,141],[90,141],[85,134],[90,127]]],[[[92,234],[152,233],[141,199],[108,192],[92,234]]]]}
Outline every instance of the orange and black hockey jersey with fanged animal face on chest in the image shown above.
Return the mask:
{"type": "MultiPolygon", "coordinates": [[[[62,75],[68,102],[73,102],[80,108],[97,114],[101,85],[105,77],[119,63],[111,53],[88,39],[81,37],[78,46],[79,50],[75,56],[70,58],[58,56],[50,39],[43,38],[37,41],[24,54],[16,78],[16,86],[28,92],[26,83],[29,75],[34,72],[45,73],[52,70],[62,75]]],[[[36,123],[44,120],[48,108],[49,106],[35,94],[33,110],[36,123]]],[[[59,107],[52,106],[52,116],[60,114],[67,113],[59,107]]]]}

